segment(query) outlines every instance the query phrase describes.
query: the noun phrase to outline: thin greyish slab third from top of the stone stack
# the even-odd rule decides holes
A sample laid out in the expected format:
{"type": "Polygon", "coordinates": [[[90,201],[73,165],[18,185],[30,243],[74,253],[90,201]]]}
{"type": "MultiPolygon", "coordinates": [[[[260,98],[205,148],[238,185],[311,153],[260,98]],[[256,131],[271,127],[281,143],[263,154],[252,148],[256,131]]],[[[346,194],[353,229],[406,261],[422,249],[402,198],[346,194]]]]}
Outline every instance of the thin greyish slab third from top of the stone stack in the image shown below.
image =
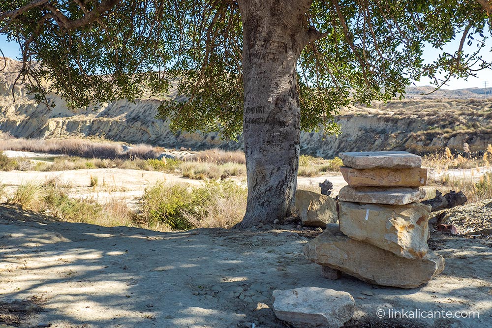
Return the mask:
{"type": "Polygon", "coordinates": [[[338,193],[338,199],[343,202],[405,205],[418,202],[426,197],[422,188],[385,188],[344,186],[338,193]]]}

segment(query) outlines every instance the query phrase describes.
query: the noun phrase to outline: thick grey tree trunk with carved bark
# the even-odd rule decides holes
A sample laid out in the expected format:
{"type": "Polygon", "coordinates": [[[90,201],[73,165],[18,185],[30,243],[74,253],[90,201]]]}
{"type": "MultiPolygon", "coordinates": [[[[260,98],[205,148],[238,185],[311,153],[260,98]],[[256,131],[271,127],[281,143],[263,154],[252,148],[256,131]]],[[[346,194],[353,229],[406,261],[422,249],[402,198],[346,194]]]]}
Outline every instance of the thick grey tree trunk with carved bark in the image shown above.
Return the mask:
{"type": "Polygon", "coordinates": [[[290,215],[299,167],[297,60],[309,1],[243,0],[244,142],[248,197],[239,225],[290,215]],[[300,2],[304,3],[304,7],[300,2]]]}

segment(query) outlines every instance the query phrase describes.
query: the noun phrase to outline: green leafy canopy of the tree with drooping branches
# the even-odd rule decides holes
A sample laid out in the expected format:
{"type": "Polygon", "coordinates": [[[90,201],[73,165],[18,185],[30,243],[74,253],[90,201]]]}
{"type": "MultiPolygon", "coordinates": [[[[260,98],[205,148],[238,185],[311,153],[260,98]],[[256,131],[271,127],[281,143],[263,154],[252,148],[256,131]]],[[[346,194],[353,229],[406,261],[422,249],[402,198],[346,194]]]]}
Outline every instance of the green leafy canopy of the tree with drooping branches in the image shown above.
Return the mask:
{"type": "MultiPolygon", "coordinates": [[[[340,107],[400,96],[412,79],[490,67],[478,52],[491,30],[487,0],[304,2],[312,36],[297,64],[305,130],[335,131],[340,107]],[[423,63],[424,46],[442,48],[453,39],[460,40],[454,53],[423,63]],[[465,54],[466,46],[472,51],[465,54]]],[[[160,116],[173,127],[230,137],[243,123],[241,3],[3,0],[0,33],[20,44],[20,77],[38,96],[55,91],[80,107],[172,91],[183,97],[164,101],[160,116]]]]}

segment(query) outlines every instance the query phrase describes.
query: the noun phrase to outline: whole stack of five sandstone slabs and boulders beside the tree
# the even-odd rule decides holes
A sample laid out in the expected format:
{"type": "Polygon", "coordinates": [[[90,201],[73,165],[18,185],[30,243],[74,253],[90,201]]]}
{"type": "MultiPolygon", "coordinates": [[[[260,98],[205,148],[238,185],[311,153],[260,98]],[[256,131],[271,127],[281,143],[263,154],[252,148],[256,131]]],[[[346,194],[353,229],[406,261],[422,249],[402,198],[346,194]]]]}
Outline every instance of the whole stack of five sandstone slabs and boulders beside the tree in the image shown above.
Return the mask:
{"type": "Polygon", "coordinates": [[[327,278],[345,272],[400,288],[440,273],[444,259],[427,244],[431,207],[419,203],[427,182],[422,158],[405,151],[346,152],[340,158],[348,186],[338,194],[339,224],[328,224],[307,244],[307,258],[322,265],[327,278]]]}

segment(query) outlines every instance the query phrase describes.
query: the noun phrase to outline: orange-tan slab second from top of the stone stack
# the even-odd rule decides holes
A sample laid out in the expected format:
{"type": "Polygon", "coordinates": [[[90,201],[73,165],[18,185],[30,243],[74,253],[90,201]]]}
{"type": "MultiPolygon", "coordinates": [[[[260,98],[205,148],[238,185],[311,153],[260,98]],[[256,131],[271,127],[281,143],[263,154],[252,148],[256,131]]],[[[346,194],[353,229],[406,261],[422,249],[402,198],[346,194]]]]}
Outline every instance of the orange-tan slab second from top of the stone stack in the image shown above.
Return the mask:
{"type": "Polygon", "coordinates": [[[352,169],[340,167],[343,179],[351,187],[422,187],[427,183],[427,169],[352,169]]]}

